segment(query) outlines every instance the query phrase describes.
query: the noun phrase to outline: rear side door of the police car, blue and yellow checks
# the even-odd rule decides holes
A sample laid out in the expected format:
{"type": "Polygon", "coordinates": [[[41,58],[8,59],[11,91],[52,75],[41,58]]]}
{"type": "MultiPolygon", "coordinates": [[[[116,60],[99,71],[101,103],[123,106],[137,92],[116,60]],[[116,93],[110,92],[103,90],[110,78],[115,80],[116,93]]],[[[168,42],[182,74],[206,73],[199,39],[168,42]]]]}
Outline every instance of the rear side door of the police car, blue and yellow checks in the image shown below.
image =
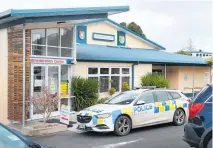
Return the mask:
{"type": "Polygon", "coordinates": [[[155,91],[154,95],[157,99],[154,110],[157,122],[172,120],[173,112],[175,110],[172,96],[166,91],[155,91]]]}

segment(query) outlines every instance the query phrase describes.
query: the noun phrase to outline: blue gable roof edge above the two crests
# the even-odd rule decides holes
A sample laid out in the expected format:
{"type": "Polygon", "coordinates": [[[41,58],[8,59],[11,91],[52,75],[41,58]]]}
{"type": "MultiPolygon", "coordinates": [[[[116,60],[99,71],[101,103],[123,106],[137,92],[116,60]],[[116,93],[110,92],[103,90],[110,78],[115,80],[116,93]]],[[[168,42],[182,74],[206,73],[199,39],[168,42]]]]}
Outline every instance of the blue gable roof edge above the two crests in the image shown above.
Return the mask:
{"type": "Polygon", "coordinates": [[[124,32],[126,32],[128,34],[130,34],[130,35],[132,35],[132,36],[134,36],[134,37],[136,37],[136,38],[138,38],[138,39],[140,39],[140,40],[142,40],[142,41],[144,41],[144,42],[146,42],[148,44],[151,44],[152,46],[154,46],[154,47],[156,47],[156,48],[158,48],[160,50],[166,50],[165,47],[157,44],[156,42],[154,42],[154,41],[152,41],[152,40],[150,40],[150,39],[148,39],[148,38],[146,38],[146,37],[144,37],[144,36],[142,36],[142,35],[140,35],[138,33],[135,33],[133,31],[131,31],[130,29],[128,29],[128,28],[126,28],[126,27],[114,22],[113,20],[108,19],[108,18],[102,18],[102,19],[87,21],[87,22],[79,23],[78,25],[79,26],[88,25],[88,24],[93,24],[93,23],[98,23],[98,22],[106,22],[108,24],[111,24],[111,25],[123,30],[124,32]]]}

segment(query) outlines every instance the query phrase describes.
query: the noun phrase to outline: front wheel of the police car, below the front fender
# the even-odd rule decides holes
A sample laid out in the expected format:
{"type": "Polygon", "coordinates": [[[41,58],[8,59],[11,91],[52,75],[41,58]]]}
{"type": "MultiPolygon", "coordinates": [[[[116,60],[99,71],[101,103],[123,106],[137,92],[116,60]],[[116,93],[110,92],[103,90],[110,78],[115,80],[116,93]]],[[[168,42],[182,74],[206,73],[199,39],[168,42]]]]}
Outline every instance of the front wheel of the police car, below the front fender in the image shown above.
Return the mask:
{"type": "Polygon", "coordinates": [[[120,116],[115,122],[114,133],[118,136],[126,136],[132,128],[131,120],[127,116],[120,116]]]}

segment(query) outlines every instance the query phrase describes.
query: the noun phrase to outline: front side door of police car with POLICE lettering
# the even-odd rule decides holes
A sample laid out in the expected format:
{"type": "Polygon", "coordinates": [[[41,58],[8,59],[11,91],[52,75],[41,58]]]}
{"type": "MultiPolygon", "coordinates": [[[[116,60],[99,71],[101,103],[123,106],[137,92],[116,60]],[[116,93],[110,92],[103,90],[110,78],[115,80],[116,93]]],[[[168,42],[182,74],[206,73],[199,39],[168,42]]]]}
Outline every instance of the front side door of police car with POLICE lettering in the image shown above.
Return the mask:
{"type": "Polygon", "coordinates": [[[154,105],[155,98],[153,92],[144,92],[134,102],[133,106],[133,126],[144,126],[151,124],[155,119],[154,105]],[[138,102],[144,102],[137,104],[138,102]]]}

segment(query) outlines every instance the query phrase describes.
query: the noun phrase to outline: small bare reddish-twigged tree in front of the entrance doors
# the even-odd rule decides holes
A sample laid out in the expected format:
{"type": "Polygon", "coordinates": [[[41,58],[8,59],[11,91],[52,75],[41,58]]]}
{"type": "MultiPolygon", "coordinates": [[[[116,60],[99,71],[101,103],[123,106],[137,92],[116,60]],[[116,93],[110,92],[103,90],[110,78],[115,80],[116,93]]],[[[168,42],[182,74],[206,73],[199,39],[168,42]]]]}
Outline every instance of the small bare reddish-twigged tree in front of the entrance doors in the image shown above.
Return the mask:
{"type": "Polygon", "coordinates": [[[41,92],[32,97],[32,104],[37,112],[43,115],[46,124],[51,113],[58,108],[59,96],[52,94],[48,87],[41,87],[41,92]]]}

